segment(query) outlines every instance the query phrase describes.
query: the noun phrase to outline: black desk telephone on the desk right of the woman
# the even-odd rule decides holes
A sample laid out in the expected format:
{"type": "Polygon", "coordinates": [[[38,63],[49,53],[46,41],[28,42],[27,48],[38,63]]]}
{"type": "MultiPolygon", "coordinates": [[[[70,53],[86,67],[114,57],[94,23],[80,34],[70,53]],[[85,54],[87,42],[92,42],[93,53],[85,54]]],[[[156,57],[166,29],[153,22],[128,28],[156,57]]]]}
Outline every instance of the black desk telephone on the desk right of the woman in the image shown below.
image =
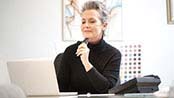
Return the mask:
{"type": "Polygon", "coordinates": [[[133,78],[115,89],[115,94],[126,93],[153,93],[158,91],[161,80],[158,76],[147,75],[140,78],[133,78]]]}

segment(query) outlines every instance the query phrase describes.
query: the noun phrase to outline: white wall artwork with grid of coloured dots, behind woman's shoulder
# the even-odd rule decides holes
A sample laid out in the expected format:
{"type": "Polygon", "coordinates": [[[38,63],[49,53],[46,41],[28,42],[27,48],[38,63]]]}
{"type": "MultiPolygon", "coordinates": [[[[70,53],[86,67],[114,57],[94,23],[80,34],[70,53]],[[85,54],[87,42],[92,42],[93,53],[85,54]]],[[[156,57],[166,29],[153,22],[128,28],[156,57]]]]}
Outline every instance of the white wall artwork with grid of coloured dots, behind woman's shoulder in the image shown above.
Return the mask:
{"type": "Polygon", "coordinates": [[[124,44],[121,46],[121,83],[142,75],[142,45],[124,44]]]}

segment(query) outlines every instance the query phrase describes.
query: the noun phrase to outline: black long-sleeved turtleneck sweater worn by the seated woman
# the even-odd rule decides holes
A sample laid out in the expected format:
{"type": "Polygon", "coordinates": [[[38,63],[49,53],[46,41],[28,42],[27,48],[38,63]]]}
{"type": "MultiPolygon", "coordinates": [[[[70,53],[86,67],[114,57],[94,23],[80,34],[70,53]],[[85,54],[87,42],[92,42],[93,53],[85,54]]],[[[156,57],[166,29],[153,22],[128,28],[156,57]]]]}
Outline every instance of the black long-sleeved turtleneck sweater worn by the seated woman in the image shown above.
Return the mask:
{"type": "Polygon", "coordinates": [[[121,53],[104,40],[95,45],[88,43],[89,61],[93,68],[86,72],[80,57],[75,54],[80,44],[69,46],[63,54],[58,73],[60,91],[108,93],[119,79],[121,53]]]}

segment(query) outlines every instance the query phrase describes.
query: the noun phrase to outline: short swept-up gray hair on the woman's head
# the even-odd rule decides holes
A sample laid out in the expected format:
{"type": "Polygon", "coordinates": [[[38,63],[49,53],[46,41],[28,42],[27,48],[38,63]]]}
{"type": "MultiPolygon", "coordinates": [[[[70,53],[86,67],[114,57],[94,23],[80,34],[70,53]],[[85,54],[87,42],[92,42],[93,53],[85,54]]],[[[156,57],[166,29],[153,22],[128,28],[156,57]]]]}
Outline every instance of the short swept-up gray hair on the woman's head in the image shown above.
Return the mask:
{"type": "Polygon", "coordinates": [[[84,5],[82,7],[82,12],[84,12],[86,10],[91,10],[91,9],[97,10],[97,12],[99,12],[102,23],[107,21],[108,11],[106,9],[106,6],[102,2],[88,1],[88,2],[84,3],[84,5]]]}

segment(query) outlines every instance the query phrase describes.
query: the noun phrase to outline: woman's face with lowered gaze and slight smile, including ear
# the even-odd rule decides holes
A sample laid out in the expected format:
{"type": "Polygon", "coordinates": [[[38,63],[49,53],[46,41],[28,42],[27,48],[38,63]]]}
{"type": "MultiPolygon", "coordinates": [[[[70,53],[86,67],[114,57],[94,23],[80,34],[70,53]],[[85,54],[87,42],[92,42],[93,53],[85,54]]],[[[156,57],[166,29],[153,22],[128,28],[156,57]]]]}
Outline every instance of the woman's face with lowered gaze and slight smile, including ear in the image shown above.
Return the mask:
{"type": "Polygon", "coordinates": [[[96,10],[86,10],[82,13],[81,31],[88,42],[96,43],[103,36],[106,24],[102,24],[100,14],[96,10]]]}

